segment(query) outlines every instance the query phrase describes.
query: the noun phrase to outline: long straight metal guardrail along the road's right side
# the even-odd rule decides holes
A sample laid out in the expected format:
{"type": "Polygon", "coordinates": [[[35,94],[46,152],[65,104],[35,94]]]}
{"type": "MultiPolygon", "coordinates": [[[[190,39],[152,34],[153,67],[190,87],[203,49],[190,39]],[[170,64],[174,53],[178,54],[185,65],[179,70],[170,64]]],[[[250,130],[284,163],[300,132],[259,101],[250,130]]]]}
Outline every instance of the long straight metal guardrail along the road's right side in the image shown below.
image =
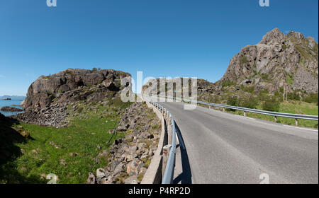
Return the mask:
{"type": "Polygon", "coordinates": [[[176,97],[171,97],[171,96],[166,96],[166,95],[152,95],[152,97],[161,97],[161,98],[169,98],[173,100],[181,100],[185,101],[186,103],[197,103],[201,105],[210,105],[214,107],[222,107],[223,111],[225,112],[225,108],[227,109],[232,109],[232,110],[242,110],[244,112],[244,116],[246,116],[246,112],[254,112],[254,113],[259,113],[262,115],[271,115],[274,116],[274,120],[277,121],[277,117],[289,117],[289,118],[294,118],[296,125],[298,125],[298,119],[301,120],[317,120],[318,121],[318,115],[302,115],[302,114],[293,114],[293,113],[285,113],[285,112],[271,112],[271,111],[266,111],[266,110],[256,110],[256,109],[249,109],[245,107],[236,107],[236,106],[230,106],[230,105],[221,105],[221,104],[216,104],[216,103],[206,103],[206,102],[201,102],[197,100],[189,100],[185,98],[176,98],[176,97]]]}

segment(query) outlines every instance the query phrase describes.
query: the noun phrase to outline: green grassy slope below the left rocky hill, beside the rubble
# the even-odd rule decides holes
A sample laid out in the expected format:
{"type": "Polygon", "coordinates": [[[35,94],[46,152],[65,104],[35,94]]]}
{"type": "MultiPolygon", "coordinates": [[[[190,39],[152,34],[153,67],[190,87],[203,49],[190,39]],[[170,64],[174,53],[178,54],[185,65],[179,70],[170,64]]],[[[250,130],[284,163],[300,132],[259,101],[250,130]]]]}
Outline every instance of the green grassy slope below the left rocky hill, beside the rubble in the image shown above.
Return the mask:
{"type": "Polygon", "coordinates": [[[40,175],[54,173],[59,177],[58,183],[84,183],[89,172],[95,172],[97,168],[107,165],[102,160],[97,164],[94,158],[103,149],[107,149],[113,141],[123,134],[116,134],[107,144],[111,134],[109,129],[117,127],[120,116],[114,106],[127,107],[130,104],[112,103],[112,106],[97,105],[96,110],[86,110],[82,105],[81,114],[71,121],[69,127],[56,129],[54,127],[40,127],[35,124],[21,124],[33,139],[26,143],[15,145],[23,149],[23,154],[15,160],[1,165],[2,182],[47,182],[39,180],[40,175]],[[104,113],[102,113],[104,112],[104,113]],[[106,113],[105,113],[106,112],[106,113]],[[101,117],[101,115],[106,117],[101,117]],[[82,119],[83,116],[89,117],[82,119]],[[54,142],[59,148],[52,146],[54,142]],[[97,148],[101,146],[101,150],[97,148]],[[70,153],[78,153],[78,156],[70,156],[70,153]],[[62,165],[61,160],[67,165],[62,165]]]}

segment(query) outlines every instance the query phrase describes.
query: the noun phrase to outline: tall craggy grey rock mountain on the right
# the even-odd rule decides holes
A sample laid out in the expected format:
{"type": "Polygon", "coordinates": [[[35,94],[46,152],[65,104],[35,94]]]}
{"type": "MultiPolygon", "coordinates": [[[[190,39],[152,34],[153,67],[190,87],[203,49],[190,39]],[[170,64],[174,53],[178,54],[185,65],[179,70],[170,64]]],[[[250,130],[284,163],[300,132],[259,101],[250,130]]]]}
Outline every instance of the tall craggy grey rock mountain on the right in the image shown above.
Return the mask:
{"type": "Polygon", "coordinates": [[[216,84],[252,84],[258,89],[318,92],[318,43],[291,31],[270,31],[257,45],[243,47],[216,84]]]}

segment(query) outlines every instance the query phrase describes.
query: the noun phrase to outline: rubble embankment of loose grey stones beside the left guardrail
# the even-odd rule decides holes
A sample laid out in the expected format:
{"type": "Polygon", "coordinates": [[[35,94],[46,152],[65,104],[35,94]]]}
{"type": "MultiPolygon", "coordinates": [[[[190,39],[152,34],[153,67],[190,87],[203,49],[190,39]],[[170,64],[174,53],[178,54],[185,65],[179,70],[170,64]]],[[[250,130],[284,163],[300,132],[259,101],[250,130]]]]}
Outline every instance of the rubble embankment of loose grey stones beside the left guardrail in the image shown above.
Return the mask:
{"type": "Polygon", "coordinates": [[[89,184],[137,184],[142,181],[157,149],[160,121],[145,103],[134,103],[123,111],[121,121],[110,133],[125,132],[109,150],[102,151],[96,161],[108,158],[108,165],[89,173],[89,184]]]}

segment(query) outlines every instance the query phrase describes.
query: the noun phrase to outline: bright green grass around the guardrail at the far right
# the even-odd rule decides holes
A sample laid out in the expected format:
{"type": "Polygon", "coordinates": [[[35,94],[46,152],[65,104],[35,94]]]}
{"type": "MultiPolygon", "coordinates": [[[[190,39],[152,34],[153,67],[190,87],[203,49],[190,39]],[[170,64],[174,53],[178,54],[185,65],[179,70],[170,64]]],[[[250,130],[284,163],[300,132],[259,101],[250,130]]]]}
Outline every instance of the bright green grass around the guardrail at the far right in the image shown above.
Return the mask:
{"type": "MultiPolygon", "coordinates": [[[[318,115],[318,106],[315,104],[305,103],[305,102],[294,102],[293,103],[281,103],[279,107],[279,112],[305,114],[305,115],[318,115]]],[[[262,105],[258,105],[257,109],[261,110],[262,105]]],[[[242,111],[228,111],[237,115],[244,115],[242,111]]],[[[253,117],[260,120],[269,120],[274,122],[274,117],[269,115],[256,114],[252,112],[246,113],[247,117],[253,117]]],[[[295,120],[287,117],[277,117],[277,122],[281,124],[295,125],[295,120]]],[[[311,127],[318,128],[318,121],[314,120],[298,120],[298,126],[301,127],[311,127]]]]}

